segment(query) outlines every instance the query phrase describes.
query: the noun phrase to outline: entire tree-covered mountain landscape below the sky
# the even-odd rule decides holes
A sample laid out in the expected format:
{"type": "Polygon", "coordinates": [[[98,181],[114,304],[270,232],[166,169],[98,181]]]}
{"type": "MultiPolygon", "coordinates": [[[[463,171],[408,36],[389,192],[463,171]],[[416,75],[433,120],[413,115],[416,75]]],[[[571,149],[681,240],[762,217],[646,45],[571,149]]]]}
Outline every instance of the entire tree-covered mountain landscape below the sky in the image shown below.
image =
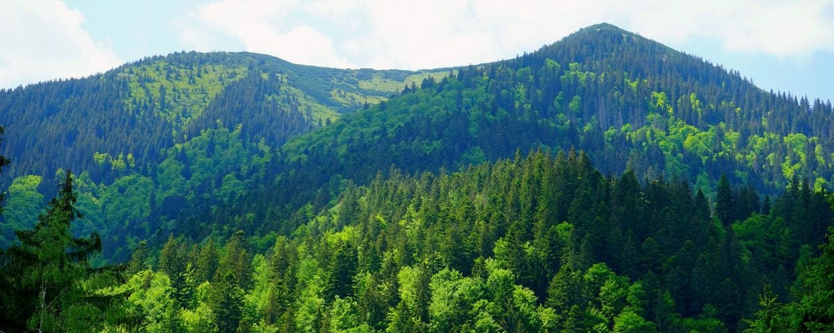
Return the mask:
{"type": "Polygon", "coordinates": [[[0,331],[834,331],[831,102],[608,24],[0,90],[0,331]]]}

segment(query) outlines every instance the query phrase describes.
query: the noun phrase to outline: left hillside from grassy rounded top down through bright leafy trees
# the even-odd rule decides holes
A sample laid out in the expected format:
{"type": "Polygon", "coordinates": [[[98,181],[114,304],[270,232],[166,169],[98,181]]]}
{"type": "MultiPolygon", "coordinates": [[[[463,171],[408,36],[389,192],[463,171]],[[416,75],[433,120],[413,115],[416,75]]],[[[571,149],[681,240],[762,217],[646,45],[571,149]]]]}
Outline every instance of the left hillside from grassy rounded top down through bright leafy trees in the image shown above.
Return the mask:
{"type": "Polygon", "coordinates": [[[253,53],[183,52],[93,77],[0,90],[0,124],[15,133],[0,147],[14,161],[0,175],[9,199],[0,247],[13,243],[15,230],[34,226],[44,197],[63,170],[73,170],[85,216],[76,231],[101,231],[111,237],[105,256],[126,256],[118,249],[133,248],[133,239],[153,236],[160,225],[204,216],[200,209],[217,204],[221,187],[261,181],[246,172],[263,173],[264,163],[254,161],[272,157],[289,138],[433,74],[445,72],[339,70],[253,53]]]}

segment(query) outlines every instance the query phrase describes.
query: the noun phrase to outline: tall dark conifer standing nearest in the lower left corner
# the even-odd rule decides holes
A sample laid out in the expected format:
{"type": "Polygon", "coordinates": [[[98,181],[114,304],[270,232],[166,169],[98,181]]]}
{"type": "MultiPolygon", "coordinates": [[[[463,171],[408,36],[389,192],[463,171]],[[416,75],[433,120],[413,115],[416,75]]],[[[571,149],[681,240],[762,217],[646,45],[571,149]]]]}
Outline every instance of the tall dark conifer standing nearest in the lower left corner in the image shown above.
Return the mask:
{"type": "Polygon", "coordinates": [[[10,319],[10,328],[23,327],[19,320],[26,318],[21,312],[31,315],[25,326],[37,331],[89,329],[91,321],[99,321],[82,281],[89,275],[88,258],[102,249],[101,238],[95,233],[89,238],[73,237],[70,224],[81,217],[75,202],[73,174],[66,171],[58,196],[38,216],[34,229],[15,232],[21,244],[8,250],[0,270],[12,276],[12,283],[4,289],[17,296],[12,297],[11,304],[0,306],[0,310],[9,310],[4,316],[10,319]]]}

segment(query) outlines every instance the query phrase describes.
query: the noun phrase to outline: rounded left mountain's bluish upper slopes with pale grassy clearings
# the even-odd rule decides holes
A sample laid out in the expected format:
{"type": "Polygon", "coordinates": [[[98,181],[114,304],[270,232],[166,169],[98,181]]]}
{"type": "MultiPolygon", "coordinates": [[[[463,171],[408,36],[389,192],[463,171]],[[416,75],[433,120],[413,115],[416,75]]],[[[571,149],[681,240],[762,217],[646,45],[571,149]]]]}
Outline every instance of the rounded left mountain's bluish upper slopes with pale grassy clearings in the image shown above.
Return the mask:
{"type": "Polygon", "coordinates": [[[2,153],[15,161],[3,183],[25,174],[53,179],[59,167],[112,181],[122,164],[158,163],[163,148],[218,122],[252,128],[251,139],[280,145],[422,75],[300,66],[247,52],[180,52],[93,77],[2,90],[0,123],[9,133],[2,153]]]}

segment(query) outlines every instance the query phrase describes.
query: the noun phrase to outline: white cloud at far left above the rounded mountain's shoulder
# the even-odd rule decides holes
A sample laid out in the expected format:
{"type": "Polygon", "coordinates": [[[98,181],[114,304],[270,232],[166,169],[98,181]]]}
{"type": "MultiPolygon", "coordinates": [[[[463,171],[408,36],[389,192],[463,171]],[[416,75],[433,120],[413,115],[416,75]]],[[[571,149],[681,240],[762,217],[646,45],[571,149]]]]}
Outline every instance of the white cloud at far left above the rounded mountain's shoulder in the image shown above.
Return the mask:
{"type": "Polygon", "coordinates": [[[83,77],[122,61],[81,24],[83,15],[58,0],[0,3],[0,87],[83,77]]]}

